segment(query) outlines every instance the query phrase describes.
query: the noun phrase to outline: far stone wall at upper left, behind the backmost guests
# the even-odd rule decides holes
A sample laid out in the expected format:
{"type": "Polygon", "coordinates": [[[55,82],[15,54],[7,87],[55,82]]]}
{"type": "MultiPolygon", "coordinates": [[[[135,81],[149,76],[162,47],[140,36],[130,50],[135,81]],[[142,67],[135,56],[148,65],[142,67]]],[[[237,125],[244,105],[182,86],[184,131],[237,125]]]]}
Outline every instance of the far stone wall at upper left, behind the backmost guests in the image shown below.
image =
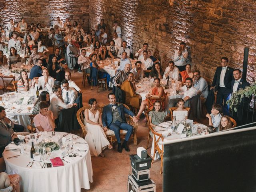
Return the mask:
{"type": "Polygon", "coordinates": [[[89,29],[89,0],[0,0],[0,25],[6,26],[10,18],[20,22],[24,17],[28,24],[41,23],[52,26],[60,17],[77,21],[86,31],[89,29]]]}

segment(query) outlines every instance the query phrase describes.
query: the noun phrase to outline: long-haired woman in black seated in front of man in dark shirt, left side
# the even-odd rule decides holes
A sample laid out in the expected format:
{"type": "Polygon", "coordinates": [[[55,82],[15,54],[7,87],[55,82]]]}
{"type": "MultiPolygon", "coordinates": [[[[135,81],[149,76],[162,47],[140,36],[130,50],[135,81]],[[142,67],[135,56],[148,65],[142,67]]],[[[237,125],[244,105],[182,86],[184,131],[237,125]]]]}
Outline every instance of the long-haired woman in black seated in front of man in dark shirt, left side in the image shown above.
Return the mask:
{"type": "Polygon", "coordinates": [[[53,56],[52,60],[48,62],[47,69],[50,76],[57,81],[61,82],[65,79],[65,69],[57,62],[56,56],[53,56]]]}

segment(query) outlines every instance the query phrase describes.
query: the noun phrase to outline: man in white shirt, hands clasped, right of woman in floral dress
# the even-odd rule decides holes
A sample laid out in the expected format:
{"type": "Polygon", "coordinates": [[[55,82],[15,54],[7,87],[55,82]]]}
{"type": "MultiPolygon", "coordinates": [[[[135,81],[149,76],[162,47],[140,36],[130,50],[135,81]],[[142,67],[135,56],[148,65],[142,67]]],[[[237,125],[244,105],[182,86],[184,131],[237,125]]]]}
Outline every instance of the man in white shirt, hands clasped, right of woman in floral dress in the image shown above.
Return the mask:
{"type": "Polygon", "coordinates": [[[43,90],[52,91],[52,87],[54,86],[54,78],[49,76],[47,68],[42,70],[42,75],[43,76],[38,78],[38,84],[36,83],[36,86],[38,86],[38,89],[42,87],[43,90]]]}

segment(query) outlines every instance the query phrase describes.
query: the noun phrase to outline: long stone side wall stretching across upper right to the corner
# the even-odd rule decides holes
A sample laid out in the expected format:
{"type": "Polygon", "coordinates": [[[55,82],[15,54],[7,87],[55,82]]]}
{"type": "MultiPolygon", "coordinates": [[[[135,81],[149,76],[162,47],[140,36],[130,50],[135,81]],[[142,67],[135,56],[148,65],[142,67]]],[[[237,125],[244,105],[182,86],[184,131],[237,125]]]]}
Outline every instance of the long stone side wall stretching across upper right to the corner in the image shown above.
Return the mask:
{"type": "Polygon", "coordinates": [[[249,47],[248,80],[256,80],[250,73],[256,70],[255,0],[90,0],[89,15],[90,29],[100,18],[110,27],[118,20],[133,52],[148,42],[164,67],[186,42],[188,62],[210,78],[222,56],[242,69],[249,47]]]}

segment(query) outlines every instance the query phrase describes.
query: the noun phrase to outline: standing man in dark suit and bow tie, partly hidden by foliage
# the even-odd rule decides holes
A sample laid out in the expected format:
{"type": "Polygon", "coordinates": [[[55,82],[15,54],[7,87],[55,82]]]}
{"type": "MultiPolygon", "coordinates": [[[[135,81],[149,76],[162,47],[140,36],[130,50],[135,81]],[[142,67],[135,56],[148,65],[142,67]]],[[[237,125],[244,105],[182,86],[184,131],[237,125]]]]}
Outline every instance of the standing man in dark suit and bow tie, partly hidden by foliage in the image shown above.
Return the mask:
{"type": "MultiPolygon", "coordinates": [[[[231,82],[232,94],[240,89],[244,89],[246,86],[250,86],[249,82],[242,79],[242,72],[240,69],[235,69],[233,71],[233,76],[234,80],[231,82]]],[[[247,115],[246,111],[248,110],[250,100],[251,98],[242,98],[242,101],[236,106],[237,112],[234,110],[232,112],[232,117],[236,120],[238,126],[243,124],[243,117],[247,115]]]]}

